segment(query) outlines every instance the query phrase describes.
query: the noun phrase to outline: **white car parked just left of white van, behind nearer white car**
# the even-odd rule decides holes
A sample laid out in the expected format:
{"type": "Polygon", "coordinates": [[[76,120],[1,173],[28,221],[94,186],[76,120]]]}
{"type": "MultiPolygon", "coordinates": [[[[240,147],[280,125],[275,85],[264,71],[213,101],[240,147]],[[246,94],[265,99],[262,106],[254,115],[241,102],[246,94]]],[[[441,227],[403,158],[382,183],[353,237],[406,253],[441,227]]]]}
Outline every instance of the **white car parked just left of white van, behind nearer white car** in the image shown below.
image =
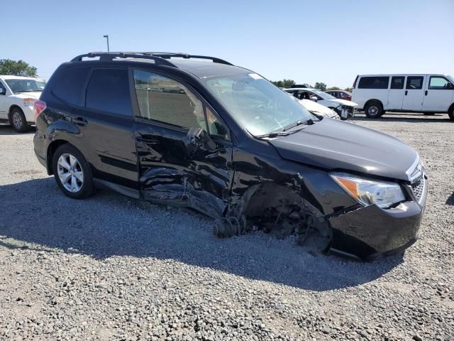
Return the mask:
{"type": "Polygon", "coordinates": [[[285,92],[293,94],[297,99],[310,99],[325,107],[333,109],[341,119],[351,119],[355,116],[356,103],[346,101],[345,99],[337,99],[321,90],[310,89],[307,87],[284,89],[285,92]]]}

